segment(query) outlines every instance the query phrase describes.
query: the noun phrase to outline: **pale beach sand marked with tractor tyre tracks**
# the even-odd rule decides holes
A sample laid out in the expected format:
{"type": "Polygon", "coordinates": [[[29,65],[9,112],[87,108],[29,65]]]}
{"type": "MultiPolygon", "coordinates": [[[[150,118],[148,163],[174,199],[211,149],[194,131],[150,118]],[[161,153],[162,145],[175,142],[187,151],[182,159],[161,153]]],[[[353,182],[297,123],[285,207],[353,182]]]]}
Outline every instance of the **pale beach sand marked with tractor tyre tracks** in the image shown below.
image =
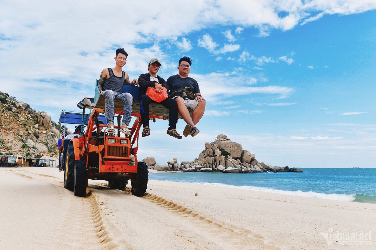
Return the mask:
{"type": "Polygon", "coordinates": [[[154,180],[141,198],[89,180],[81,198],[63,177],[0,168],[1,249],[376,249],[375,204],[154,180]]]}

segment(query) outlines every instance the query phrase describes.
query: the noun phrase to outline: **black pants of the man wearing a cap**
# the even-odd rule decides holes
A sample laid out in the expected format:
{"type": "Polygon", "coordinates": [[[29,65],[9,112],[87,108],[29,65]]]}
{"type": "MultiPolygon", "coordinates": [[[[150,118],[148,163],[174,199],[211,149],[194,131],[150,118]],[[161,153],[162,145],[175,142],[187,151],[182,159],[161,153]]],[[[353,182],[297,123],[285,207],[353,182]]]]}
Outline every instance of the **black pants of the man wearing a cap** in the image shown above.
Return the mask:
{"type": "MultiPolygon", "coordinates": [[[[149,126],[149,105],[150,103],[158,103],[150,99],[150,96],[144,94],[141,96],[140,114],[144,127],[149,126]]],[[[165,108],[168,108],[168,129],[176,129],[177,123],[177,103],[176,100],[167,98],[161,103],[165,108]]]]}

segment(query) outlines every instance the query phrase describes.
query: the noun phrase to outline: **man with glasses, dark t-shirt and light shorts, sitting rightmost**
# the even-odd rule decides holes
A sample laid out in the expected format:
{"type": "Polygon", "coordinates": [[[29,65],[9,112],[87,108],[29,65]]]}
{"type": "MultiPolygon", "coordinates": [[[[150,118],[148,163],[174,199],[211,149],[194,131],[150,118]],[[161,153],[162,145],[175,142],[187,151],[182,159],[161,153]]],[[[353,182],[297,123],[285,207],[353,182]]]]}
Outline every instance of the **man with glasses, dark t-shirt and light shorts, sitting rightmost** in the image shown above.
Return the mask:
{"type": "Polygon", "coordinates": [[[200,121],[205,112],[206,100],[201,96],[199,84],[197,81],[189,77],[191,70],[191,58],[182,57],[179,60],[179,74],[170,76],[167,79],[167,85],[170,87],[171,94],[169,97],[176,100],[177,109],[180,116],[187,123],[183,131],[183,135],[195,136],[200,130],[196,124],[200,121]],[[193,109],[192,118],[188,108],[193,109]]]}

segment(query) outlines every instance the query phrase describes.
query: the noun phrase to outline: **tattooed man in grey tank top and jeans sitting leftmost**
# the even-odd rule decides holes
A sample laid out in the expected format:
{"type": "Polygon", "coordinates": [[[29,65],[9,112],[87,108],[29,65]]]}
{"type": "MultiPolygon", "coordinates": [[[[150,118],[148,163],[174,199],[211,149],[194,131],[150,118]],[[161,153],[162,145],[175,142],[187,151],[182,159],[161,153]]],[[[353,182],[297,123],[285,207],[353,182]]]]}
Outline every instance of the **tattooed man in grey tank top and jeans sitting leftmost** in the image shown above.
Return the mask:
{"type": "Polygon", "coordinates": [[[124,103],[124,113],[123,120],[121,121],[120,132],[130,135],[128,125],[132,119],[132,102],[133,97],[130,93],[121,93],[123,90],[123,84],[128,85],[138,85],[137,79],[133,79],[132,82],[129,81],[129,76],[127,72],[124,72],[123,66],[127,61],[128,54],[123,48],[118,48],[116,50],[115,62],[116,66],[114,68],[103,69],[100,73],[100,78],[98,82],[98,88],[100,94],[105,96],[105,109],[106,109],[106,121],[107,121],[107,133],[115,133],[114,128],[114,102],[115,97],[123,100],[124,103]]]}

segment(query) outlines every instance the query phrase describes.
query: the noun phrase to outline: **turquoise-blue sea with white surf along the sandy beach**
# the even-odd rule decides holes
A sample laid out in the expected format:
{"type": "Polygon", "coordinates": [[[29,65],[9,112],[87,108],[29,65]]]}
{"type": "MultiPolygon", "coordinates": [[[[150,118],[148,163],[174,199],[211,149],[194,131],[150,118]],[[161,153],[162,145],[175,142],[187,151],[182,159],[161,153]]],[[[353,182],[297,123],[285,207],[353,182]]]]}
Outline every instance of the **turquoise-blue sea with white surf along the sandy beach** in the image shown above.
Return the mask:
{"type": "Polygon", "coordinates": [[[376,168],[302,168],[302,171],[248,174],[153,172],[149,179],[376,204],[376,168]]]}

